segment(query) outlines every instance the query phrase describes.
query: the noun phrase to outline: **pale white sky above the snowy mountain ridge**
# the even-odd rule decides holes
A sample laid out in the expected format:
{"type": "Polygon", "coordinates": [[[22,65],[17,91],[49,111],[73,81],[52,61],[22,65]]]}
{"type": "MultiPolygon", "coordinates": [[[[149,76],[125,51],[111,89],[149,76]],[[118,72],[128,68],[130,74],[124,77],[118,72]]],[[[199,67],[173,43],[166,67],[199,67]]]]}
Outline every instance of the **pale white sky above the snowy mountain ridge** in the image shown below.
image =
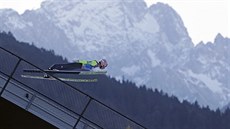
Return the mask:
{"type": "MultiPolygon", "coordinates": [[[[37,9],[44,0],[0,0],[0,8],[13,8],[20,14],[26,9],[37,9]]],[[[193,42],[213,42],[217,33],[230,37],[229,0],[145,0],[150,6],[168,3],[182,17],[193,42]]]]}

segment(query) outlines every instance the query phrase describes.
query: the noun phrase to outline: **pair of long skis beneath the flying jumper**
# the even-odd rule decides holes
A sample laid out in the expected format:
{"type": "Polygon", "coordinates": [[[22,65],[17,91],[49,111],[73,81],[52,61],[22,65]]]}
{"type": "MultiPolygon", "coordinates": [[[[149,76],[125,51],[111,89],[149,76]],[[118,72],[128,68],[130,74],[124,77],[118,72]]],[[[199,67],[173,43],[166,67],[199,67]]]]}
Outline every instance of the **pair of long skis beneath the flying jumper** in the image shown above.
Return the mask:
{"type": "MultiPolygon", "coordinates": [[[[45,80],[57,80],[46,74],[75,74],[76,76],[80,75],[103,75],[106,74],[106,71],[82,71],[82,70],[39,70],[39,69],[24,69],[23,72],[25,73],[44,73],[43,76],[40,75],[21,75],[23,78],[29,79],[45,79],[45,80]]],[[[62,81],[69,81],[69,82],[97,82],[98,79],[82,79],[82,78],[67,78],[67,77],[57,77],[62,81]]]]}

